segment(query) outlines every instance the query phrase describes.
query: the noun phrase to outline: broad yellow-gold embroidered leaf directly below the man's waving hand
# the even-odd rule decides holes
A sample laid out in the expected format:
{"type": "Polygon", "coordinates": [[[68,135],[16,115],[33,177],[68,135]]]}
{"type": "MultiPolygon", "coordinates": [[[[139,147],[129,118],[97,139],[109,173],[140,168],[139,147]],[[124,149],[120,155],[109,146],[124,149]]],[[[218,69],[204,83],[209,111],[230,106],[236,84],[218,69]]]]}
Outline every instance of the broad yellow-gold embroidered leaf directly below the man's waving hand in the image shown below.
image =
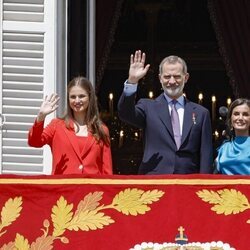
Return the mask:
{"type": "Polygon", "coordinates": [[[143,201],[140,200],[143,193],[143,190],[137,188],[125,189],[115,196],[112,205],[116,210],[125,215],[136,216],[138,214],[145,214],[150,210],[150,207],[143,204],[143,201]]]}

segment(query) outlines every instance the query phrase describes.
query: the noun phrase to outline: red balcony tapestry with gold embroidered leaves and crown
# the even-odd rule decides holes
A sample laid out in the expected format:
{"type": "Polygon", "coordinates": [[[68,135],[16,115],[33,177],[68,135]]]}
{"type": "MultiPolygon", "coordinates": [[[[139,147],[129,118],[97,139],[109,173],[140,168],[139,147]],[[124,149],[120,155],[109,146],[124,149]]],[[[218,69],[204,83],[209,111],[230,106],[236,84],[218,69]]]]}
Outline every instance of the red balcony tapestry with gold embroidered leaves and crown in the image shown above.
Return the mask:
{"type": "Polygon", "coordinates": [[[248,176],[2,175],[0,190],[3,250],[250,249],[248,176]]]}

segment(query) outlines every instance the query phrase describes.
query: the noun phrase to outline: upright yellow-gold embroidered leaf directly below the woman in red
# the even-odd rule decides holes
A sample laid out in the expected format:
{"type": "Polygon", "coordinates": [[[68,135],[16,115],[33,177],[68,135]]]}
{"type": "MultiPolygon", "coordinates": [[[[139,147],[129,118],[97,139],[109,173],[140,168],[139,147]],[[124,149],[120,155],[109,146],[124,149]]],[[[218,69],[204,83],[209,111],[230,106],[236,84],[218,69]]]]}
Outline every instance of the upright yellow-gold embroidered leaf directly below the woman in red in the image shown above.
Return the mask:
{"type": "Polygon", "coordinates": [[[54,225],[53,236],[60,236],[68,227],[73,217],[73,204],[67,204],[63,196],[57,201],[57,205],[53,206],[51,219],[54,225]]]}

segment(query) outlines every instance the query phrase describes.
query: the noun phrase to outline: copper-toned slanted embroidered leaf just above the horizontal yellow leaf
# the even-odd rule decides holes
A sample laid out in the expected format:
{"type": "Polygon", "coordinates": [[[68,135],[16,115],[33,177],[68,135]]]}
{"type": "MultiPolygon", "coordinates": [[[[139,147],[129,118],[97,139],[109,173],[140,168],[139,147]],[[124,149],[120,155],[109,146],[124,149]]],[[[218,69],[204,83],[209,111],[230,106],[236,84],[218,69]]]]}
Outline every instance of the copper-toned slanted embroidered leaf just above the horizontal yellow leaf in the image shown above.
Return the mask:
{"type": "Polygon", "coordinates": [[[79,202],[75,214],[84,212],[86,210],[95,210],[99,206],[99,201],[102,199],[103,192],[89,193],[79,202]]]}

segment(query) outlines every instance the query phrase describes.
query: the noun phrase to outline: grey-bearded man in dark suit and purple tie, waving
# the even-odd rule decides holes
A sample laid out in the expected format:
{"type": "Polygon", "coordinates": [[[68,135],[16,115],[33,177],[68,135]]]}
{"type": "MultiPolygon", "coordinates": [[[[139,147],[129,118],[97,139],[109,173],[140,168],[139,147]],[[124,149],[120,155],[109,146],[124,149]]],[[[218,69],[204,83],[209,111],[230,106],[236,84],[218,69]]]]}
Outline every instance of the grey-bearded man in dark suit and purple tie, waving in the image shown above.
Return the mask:
{"type": "Polygon", "coordinates": [[[159,66],[164,92],[155,100],[140,99],[135,103],[138,82],[150,67],[145,65],[145,59],[140,50],[131,55],[129,77],[118,103],[120,119],[143,129],[144,154],[139,174],[212,173],[210,114],[183,95],[189,78],[185,61],[177,56],[164,58],[159,66]],[[176,119],[178,123],[172,125],[176,119]]]}

